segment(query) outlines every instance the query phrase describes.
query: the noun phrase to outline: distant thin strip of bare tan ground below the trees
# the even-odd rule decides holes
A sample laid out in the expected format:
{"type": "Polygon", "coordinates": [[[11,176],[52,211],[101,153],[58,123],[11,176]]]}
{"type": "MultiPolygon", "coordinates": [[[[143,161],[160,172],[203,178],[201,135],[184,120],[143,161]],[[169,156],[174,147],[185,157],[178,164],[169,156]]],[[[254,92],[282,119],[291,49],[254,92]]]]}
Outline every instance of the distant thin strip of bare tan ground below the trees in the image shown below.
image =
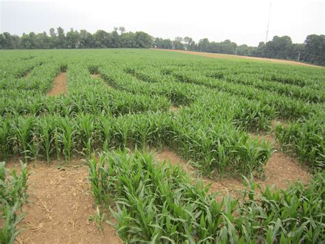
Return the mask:
{"type": "MultiPolygon", "coordinates": [[[[158,49],[158,48],[153,48],[158,49]]],[[[258,57],[248,57],[248,56],[237,56],[232,54],[212,54],[208,52],[193,52],[193,51],[184,51],[184,50],[174,50],[174,49],[158,49],[158,50],[164,50],[164,51],[170,51],[170,52],[179,52],[182,54],[194,54],[198,56],[204,56],[208,58],[225,58],[225,59],[250,59],[250,60],[261,60],[265,62],[271,62],[271,63],[284,63],[287,65],[302,65],[302,66],[309,66],[309,67],[317,67],[317,68],[324,68],[317,65],[310,65],[308,63],[300,63],[296,61],[291,60],[282,60],[282,59],[274,59],[274,58],[258,58],[258,57]]]]}

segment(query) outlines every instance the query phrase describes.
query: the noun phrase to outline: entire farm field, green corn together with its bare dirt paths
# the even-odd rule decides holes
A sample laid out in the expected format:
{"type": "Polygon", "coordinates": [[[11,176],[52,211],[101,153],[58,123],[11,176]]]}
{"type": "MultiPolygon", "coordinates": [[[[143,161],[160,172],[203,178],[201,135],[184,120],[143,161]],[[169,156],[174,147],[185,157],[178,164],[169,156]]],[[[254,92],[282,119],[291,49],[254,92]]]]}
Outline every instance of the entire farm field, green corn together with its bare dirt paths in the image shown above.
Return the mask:
{"type": "Polygon", "coordinates": [[[0,54],[0,243],[325,240],[325,69],[0,54]]]}

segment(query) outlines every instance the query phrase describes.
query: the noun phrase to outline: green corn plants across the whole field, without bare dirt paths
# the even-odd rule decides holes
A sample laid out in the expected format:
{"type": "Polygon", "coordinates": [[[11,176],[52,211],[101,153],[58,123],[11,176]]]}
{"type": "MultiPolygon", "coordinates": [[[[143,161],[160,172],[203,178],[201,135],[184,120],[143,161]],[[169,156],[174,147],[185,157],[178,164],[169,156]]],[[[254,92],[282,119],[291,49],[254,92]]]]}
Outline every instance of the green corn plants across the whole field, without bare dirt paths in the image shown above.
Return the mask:
{"type": "Polygon", "coordinates": [[[324,69],[135,49],[1,51],[0,60],[0,161],[88,159],[94,199],[123,241],[324,241],[324,69]],[[67,93],[47,96],[62,72],[67,93]],[[145,153],[168,146],[204,175],[264,179],[275,148],[251,133],[272,131],[315,175],[309,186],[256,190],[249,180],[243,201],[218,202],[145,153]]]}

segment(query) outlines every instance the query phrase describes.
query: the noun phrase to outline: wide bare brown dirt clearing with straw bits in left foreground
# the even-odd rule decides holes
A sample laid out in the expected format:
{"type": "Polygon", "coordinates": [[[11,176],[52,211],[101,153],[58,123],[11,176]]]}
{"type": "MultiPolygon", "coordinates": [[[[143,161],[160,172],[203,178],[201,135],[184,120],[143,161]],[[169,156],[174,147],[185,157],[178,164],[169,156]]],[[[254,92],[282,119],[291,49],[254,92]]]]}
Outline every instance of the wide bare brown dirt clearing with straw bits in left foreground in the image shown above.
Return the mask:
{"type": "MultiPolygon", "coordinates": [[[[17,162],[10,162],[12,168],[17,162]]],[[[99,231],[89,217],[95,214],[94,199],[88,182],[88,168],[75,160],[58,168],[42,162],[30,162],[28,202],[23,206],[24,230],[18,243],[121,243],[115,228],[103,223],[99,231]]],[[[107,216],[106,216],[107,217],[107,216]]]]}

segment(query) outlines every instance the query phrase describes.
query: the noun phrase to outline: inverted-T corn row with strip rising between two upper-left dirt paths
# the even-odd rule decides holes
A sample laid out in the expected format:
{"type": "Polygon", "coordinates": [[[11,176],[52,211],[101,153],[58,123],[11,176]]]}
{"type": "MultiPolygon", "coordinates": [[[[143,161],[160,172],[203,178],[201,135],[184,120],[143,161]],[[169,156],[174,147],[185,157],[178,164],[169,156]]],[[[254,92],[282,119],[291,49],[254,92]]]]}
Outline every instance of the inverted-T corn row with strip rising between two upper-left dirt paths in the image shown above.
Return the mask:
{"type": "Polygon", "coordinates": [[[106,89],[101,82],[91,78],[86,70],[71,67],[67,75],[71,88],[69,96],[44,97],[31,96],[12,99],[19,93],[10,93],[11,96],[1,100],[0,113],[2,116],[10,114],[20,115],[53,115],[71,116],[75,113],[106,113],[108,115],[122,115],[125,113],[139,113],[143,111],[167,110],[169,101],[161,96],[146,96],[145,94],[130,94],[123,91],[106,89]],[[81,81],[80,81],[81,80],[81,81]],[[82,81],[84,83],[82,83],[82,81]],[[77,86],[76,86],[77,85],[77,86]]]}

